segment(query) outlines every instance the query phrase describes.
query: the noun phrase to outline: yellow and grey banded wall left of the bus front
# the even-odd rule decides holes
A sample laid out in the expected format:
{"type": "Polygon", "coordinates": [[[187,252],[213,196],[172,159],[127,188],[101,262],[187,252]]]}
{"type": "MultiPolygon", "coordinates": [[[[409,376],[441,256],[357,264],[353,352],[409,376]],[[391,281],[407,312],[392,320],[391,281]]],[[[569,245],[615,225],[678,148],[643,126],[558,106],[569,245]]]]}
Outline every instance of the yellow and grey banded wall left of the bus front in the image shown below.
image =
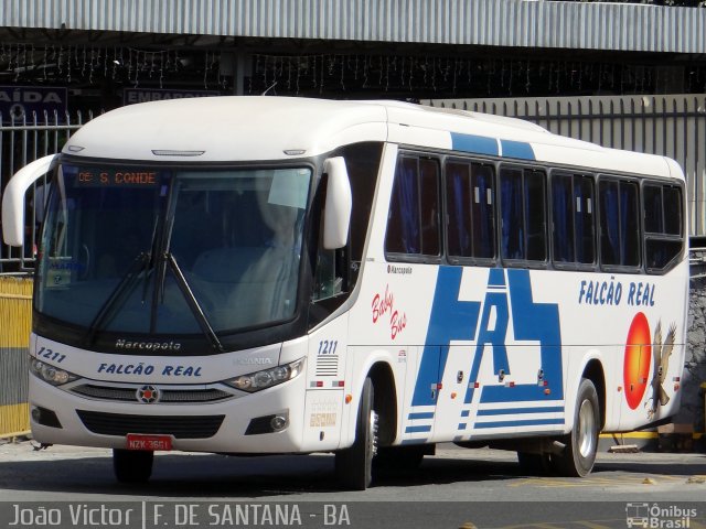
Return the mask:
{"type": "Polygon", "coordinates": [[[28,346],[32,280],[0,277],[0,438],[30,431],[28,346]]]}

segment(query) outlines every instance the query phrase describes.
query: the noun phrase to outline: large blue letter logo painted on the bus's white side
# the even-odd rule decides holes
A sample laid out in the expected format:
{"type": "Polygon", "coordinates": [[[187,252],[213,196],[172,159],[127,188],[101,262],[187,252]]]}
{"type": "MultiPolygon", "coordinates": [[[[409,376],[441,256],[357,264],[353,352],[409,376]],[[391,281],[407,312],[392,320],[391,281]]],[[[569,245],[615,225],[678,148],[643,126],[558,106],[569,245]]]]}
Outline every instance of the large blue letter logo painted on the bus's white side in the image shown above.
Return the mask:
{"type": "MultiPolygon", "coordinates": [[[[505,375],[510,375],[512,371],[507,361],[505,341],[511,317],[515,341],[539,342],[539,369],[544,371],[544,380],[552,388],[552,400],[563,399],[558,305],[535,303],[532,299],[530,271],[515,269],[490,270],[488,290],[482,303],[460,301],[462,272],[461,267],[439,267],[429,328],[411,404],[436,404],[429,388],[442,379],[451,341],[475,341],[477,343],[470,366],[466,403],[470,403],[473,398],[474,382],[478,380],[485,346],[490,346],[493,352],[494,373],[500,374],[502,369],[505,375]],[[512,313],[507,305],[509,296],[512,313]],[[493,307],[495,322],[491,324],[493,307]]],[[[545,387],[538,384],[516,385],[512,388],[503,385],[484,386],[481,402],[546,400],[544,390],[545,387]]]]}

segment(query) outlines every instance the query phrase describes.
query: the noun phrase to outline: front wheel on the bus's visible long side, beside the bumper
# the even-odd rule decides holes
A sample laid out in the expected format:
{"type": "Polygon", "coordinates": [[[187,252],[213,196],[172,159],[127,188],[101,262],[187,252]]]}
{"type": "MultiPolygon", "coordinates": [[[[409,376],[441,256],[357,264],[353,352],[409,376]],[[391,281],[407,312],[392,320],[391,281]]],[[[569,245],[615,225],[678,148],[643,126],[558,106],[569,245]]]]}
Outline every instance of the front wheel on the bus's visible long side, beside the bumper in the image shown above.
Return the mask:
{"type": "Polygon", "coordinates": [[[366,378],[361,393],[353,446],[335,453],[336,479],[349,490],[365,490],[373,482],[373,457],[377,451],[374,395],[373,381],[366,378]]]}

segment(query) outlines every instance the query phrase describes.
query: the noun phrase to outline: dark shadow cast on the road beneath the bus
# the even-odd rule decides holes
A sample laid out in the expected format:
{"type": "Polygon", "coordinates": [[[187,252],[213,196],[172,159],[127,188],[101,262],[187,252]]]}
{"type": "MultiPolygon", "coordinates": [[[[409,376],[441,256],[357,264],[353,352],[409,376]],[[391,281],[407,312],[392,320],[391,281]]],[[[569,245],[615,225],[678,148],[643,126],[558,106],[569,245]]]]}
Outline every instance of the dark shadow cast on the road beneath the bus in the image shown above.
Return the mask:
{"type": "MultiPolygon", "coordinates": [[[[222,500],[264,499],[315,493],[338,500],[374,499],[375,487],[424,487],[454,483],[481,483],[536,477],[524,473],[512,456],[502,460],[425,457],[418,468],[384,468],[375,486],[351,493],[340,488],[333,471],[333,455],[281,455],[261,457],[215,454],[159,454],[147,484],[119,484],[113,461],[105,457],[53,458],[0,463],[0,500],[3,490],[73,493],[87,500],[109,495],[126,500],[208,498],[222,500]],[[96,496],[92,498],[92,496],[96,496]]],[[[692,454],[688,461],[600,461],[593,475],[616,473],[645,475],[706,475],[706,456],[692,454]]],[[[571,479],[571,478],[563,478],[571,479]]],[[[302,499],[302,498],[298,498],[302,499]]]]}

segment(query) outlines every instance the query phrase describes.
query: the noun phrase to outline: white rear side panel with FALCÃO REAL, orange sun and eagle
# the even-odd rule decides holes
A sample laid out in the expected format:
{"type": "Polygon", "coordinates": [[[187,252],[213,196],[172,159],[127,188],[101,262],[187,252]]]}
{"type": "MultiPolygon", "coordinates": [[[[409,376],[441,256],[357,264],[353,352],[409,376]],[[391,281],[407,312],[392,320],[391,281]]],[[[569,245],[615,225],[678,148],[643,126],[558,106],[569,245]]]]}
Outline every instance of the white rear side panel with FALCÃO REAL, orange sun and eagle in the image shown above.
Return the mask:
{"type": "Polygon", "coordinates": [[[560,292],[567,427],[591,360],[600,363],[605,377],[605,431],[628,431],[673,414],[684,361],[684,268],[665,276],[543,273],[560,292]],[[660,365],[666,367],[661,379],[660,365]]]}

